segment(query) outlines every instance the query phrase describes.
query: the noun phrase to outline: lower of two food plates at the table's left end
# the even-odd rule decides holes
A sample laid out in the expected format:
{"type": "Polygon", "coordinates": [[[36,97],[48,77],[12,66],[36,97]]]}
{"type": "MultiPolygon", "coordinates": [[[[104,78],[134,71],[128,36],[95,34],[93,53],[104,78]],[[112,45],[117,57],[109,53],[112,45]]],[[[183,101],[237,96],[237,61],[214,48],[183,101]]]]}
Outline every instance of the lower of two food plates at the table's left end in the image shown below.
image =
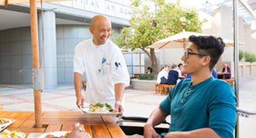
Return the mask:
{"type": "Polygon", "coordinates": [[[26,134],[19,132],[19,130],[6,129],[1,133],[2,138],[25,138],[26,134]]]}

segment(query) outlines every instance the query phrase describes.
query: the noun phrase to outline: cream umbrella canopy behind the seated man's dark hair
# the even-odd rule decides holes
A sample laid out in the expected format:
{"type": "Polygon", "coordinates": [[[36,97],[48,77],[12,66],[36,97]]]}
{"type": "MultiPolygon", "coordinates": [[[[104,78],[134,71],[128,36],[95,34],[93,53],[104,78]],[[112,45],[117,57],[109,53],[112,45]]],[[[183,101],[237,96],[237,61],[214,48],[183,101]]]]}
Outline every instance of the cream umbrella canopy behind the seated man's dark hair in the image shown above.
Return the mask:
{"type": "MultiPolygon", "coordinates": [[[[160,41],[154,42],[153,45],[150,45],[148,48],[151,49],[180,49],[187,47],[191,42],[189,42],[189,36],[191,35],[202,35],[206,36],[207,34],[201,34],[197,32],[180,32],[176,35],[172,35],[166,39],[161,39],[160,41]]],[[[229,39],[223,39],[223,42],[226,43],[226,46],[233,46],[234,41],[229,39]]],[[[240,45],[244,45],[244,43],[239,42],[240,45]]]]}

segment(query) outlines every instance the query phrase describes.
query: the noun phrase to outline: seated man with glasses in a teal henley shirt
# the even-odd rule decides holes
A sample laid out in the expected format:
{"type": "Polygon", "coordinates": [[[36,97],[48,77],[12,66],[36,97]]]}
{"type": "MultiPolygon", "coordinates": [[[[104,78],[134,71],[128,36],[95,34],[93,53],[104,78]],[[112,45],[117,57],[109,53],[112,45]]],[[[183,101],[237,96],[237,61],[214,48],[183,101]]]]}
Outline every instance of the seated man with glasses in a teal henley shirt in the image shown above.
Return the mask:
{"type": "Polygon", "coordinates": [[[234,137],[237,97],[229,83],[213,79],[212,69],[225,44],[221,38],[191,35],[192,42],[182,56],[184,69],[192,79],[182,79],[169,92],[144,126],[144,137],[157,137],[154,126],[171,115],[168,133],[161,137],[234,137]]]}

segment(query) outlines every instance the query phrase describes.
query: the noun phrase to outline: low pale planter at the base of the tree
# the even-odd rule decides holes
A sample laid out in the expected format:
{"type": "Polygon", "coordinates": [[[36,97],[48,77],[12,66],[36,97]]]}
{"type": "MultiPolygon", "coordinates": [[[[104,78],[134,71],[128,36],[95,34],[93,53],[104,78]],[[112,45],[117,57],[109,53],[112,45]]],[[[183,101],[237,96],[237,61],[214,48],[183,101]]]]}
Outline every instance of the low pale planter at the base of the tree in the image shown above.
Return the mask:
{"type": "Polygon", "coordinates": [[[140,90],[155,90],[155,84],[157,80],[139,80],[139,79],[131,79],[133,89],[140,90]]]}

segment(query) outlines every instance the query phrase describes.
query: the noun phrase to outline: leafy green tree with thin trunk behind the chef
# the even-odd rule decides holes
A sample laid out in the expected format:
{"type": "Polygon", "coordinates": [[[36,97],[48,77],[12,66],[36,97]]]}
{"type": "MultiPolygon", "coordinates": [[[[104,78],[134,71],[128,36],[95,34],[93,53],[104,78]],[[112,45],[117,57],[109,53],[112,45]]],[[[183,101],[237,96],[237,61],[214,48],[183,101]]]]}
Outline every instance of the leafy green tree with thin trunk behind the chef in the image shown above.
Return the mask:
{"type": "Polygon", "coordinates": [[[133,10],[130,14],[130,27],[123,28],[120,34],[114,36],[116,45],[125,49],[142,49],[149,56],[153,75],[156,72],[157,58],[154,49],[150,53],[146,48],[158,40],[165,39],[183,29],[189,32],[202,32],[201,27],[206,19],[199,20],[196,8],[185,8],[175,3],[165,3],[164,0],[154,0],[156,8],[150,12],[150,7],[142,5],[147,0],[132,0],[131,6],[142,6],[141,10],[133,10]]]}

